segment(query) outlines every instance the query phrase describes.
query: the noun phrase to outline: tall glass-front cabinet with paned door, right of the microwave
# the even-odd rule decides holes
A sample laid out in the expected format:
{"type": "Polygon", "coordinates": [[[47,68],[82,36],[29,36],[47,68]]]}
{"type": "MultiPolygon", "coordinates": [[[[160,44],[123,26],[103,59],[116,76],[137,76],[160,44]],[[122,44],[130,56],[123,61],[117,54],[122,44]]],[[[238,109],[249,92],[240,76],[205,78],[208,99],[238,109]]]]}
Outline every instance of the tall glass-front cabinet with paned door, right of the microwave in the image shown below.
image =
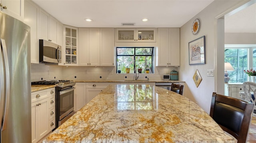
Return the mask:
{"type": "Polygon", "coordinates": [[[66,66],[78,65],[78,28],[64,26],[65,48],[63,60],[66,66]]]}

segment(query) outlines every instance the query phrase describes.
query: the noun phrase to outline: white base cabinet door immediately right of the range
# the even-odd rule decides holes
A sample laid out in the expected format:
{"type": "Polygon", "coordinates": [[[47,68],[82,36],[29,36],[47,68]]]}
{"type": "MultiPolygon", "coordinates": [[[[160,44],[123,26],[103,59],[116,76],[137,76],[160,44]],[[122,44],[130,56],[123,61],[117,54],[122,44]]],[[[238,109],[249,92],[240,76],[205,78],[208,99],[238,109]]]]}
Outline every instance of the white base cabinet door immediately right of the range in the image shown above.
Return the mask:
{"type": "Polygon", "coordinates": [[[86,105],[86,83],[76,83],[75,85],[75,112],[86,105]]]}

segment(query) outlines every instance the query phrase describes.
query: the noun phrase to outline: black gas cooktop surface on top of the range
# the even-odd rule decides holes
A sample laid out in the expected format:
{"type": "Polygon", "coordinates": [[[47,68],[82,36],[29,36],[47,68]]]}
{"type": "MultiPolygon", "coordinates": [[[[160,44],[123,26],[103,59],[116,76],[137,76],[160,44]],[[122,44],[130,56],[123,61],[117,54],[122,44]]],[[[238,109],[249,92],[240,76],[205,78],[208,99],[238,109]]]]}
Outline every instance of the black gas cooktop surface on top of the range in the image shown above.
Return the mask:
{"type": "Polygon", "coordinates": [[[73,80],[43,80],[31,82],[31,85],[56,85],[58,87],[74,86],[73,80]]]}

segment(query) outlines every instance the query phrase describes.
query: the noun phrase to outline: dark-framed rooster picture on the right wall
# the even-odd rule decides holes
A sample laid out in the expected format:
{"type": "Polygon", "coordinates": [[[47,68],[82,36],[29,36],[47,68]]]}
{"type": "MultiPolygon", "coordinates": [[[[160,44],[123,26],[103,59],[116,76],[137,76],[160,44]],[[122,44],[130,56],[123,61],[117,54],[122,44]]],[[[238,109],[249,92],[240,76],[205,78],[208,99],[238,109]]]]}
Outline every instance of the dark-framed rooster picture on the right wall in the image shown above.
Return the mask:
{"type": "Polygon", "coordinates": [[[206,63],[205,57],[205,36],[197,38],[188,43],[189,65],[206,63]]]}

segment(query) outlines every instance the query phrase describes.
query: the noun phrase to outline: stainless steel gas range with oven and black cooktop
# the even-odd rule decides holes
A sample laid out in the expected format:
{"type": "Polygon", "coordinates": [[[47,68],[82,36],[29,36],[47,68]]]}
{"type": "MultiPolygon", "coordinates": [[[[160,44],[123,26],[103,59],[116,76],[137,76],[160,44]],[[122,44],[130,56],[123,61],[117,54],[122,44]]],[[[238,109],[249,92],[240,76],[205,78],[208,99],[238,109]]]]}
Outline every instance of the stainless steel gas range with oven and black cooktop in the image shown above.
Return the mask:
{"type": "MultiPolygon", "coordinates": [[[[35,81],[32,85],[56,85],[55,87],[55,111],[56,128],[74,115],[74,85],[72,80],[45,80],[35,81]]],[[[55,129],[56,129],[55,128],[55,129]]],[[[54,130],[54,129],[53,129],[54,130]]]]}

